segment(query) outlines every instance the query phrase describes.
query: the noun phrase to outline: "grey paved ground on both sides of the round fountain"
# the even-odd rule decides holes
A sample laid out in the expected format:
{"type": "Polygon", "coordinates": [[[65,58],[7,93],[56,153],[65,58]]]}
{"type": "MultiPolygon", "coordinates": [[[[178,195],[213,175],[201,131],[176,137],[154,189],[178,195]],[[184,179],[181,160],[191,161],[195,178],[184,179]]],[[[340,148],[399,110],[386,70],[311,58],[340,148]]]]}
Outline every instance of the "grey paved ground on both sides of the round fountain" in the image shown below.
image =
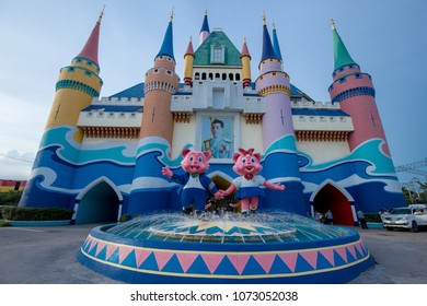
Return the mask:
{"type": "MultiPolygon", "coordinates": [[[[1,284],[114,284],[77,261],[96,224],[0,227],[1,284]]],[[[358,229],[377,264],[353,284],[427,284],[427,231],[358,229]]]]}

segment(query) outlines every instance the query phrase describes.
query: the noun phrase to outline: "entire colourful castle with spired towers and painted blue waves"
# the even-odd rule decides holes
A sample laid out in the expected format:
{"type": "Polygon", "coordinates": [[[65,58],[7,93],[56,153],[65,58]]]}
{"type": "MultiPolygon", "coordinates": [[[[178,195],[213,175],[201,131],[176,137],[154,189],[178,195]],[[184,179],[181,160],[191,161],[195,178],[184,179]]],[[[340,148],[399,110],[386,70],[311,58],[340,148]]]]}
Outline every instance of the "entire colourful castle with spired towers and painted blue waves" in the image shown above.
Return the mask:
{"type": "Polygon", "coordinates": [[[238,49],[224,32],[211,32],[207,14],[198,48],[189,40],[184,54],[183,79],[175,72],[171,16],[145,82],[100,97],[101,20],[60,70],[21,207],[73,209],[73,223],[181,211],[180,186],[161,168],[180,172],[183,148],[212,153],[207,174],[221,189],[236,176],[230,154],[261,152],[261,174],[286,185],[282,192],[265,190],[261,210],[331,210],[336,224],[354,225],[358,210],[404,203],[371,76],[333,21],[331,102],[320,103],[290,83],[276,28],[270,36],[265,17],[254,78],[246,42],[238,49]]]}

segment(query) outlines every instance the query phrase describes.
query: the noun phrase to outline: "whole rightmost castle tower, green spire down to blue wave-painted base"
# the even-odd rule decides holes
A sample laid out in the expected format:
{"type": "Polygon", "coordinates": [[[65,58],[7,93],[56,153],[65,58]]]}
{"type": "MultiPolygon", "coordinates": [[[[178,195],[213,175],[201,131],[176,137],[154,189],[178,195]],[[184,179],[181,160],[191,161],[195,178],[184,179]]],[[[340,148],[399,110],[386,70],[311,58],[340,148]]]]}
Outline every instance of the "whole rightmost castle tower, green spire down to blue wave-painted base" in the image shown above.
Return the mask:
{"type": "MultiPolygon", "coordinates": [[[[404,204],[401,186],[395,175],[393,161],[385,140],[380,115],[376,104],[376,90],[371,75],[361,72],[360,67],[353,60],[345,47],[334,21],[331,20],[334,43],[335,67],[333,83],[330,86],[331,101],[339,103],[341,109],[351,116],[354,131],[348,136],[348,146],[353,158],[362,163],[355,163],[356,173],[373,173],[374,178],[386,177],[392,187],[384,188],[384,183],[360,184],[354,192],[357,203],[362,211],[378,211],[384,207],[404,204]],[[373,166],[366,168],[366,163],[373,166]],[[393,184],[394,183],[394,184],[393,184]]],[[[355,176],[357,177],[357,176],[355,176]]]]}

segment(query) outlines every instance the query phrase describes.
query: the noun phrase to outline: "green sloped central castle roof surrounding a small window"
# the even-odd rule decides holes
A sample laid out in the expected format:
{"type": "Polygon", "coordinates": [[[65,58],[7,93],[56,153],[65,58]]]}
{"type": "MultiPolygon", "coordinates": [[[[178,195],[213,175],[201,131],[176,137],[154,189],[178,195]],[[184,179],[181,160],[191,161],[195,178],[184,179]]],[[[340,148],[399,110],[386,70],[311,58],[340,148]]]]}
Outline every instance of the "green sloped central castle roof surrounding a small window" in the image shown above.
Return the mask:
{"type": "Polygon", "coordinates": [[[241,54],[222,31],[214,31],[194,54],[193,66],[242,66],[241,54]],[[214,47],[224,48],[224,62],[211,63],[210,56],[214,47]]]}

